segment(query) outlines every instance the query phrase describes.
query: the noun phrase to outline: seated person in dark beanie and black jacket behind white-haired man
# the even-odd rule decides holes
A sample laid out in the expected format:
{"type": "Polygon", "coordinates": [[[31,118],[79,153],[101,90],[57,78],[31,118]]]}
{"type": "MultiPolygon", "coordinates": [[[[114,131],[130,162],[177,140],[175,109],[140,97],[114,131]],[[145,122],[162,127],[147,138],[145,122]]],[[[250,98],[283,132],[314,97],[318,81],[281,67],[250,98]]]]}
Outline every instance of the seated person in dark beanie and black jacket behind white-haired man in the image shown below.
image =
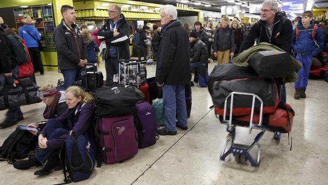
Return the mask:
{"type": "Polygon", "coordinates": [[[208,50],[205,43],[197,37],[197,33],[192,31],[189,34],[189,41],[191,47],[190,66],[192,70],[197,70],[198,67],[206,67],[208,59],[208,50]]]}

